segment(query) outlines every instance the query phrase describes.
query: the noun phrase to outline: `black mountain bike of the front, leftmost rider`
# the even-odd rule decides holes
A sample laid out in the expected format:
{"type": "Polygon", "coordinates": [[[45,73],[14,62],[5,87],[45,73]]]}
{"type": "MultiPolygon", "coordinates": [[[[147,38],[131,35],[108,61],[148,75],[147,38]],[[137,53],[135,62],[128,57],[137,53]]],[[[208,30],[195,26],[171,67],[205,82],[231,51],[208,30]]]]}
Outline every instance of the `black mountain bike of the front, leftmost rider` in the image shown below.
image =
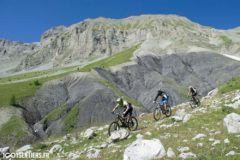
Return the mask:
{"type": "MultiPolygon", "coordinates": [[[[114,112],[113,112],[114,113],[114,112]]],[[[123,117],[119,113],[114,113],[117,115],[116,119],[108,127],[108,135],[111,136],[111,133],[120,129],[120,127],[128,128],[130,131],[135,131],[138,127],[138,120],[134,116],[130,116],[129,120],[127,117],[123,117]]]]}

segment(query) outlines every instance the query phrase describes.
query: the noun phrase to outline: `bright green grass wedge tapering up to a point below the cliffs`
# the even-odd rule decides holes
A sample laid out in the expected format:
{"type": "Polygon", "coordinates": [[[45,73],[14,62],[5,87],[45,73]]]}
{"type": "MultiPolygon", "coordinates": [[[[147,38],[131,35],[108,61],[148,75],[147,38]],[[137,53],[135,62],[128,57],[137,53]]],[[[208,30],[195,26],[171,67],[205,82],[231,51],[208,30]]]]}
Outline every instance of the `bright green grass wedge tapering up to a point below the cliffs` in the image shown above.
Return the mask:
{"type": "Polygon", "coordinates": [[[129,48],[125,51],[122,51],[120,53],[114,54],[110,57],[107,57],[105,59],[99,60],[97,62],[91,63],[89,65],[84,66],[80,69],[80,72],[90,72],[93,68],[109,68],[111,66],[115,66],[118,64],[125,63],[127,61],[130,61],[130,58],[132,58],[134,51],[139,47],[139,45],[136,45],[132,48],[129,48]]]}

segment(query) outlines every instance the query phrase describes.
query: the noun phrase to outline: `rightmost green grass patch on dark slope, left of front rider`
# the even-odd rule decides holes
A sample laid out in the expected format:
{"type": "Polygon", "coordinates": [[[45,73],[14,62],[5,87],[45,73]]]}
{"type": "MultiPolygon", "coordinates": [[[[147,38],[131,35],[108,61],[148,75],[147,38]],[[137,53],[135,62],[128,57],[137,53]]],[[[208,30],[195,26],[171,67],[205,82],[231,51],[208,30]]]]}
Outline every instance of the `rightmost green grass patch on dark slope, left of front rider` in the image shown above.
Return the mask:
{"type": "Polygon", "coordinates": [[[64,127],[66,132],[70,132],[75,128],[79,111],[80,111],[79,107],[75,106],[64,118],[64,127]]]}

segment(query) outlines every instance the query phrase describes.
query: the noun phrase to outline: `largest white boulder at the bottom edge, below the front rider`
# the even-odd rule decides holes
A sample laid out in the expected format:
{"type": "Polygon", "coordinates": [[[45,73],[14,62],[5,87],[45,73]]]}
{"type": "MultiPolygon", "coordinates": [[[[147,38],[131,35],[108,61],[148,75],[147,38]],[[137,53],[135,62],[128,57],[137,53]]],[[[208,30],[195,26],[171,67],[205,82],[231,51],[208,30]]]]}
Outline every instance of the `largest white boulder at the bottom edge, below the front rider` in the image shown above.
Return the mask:
{"type": "Polygon", "coordinates": [[[166,151],[159,139],[137,139],[124,151],[124,160],[151,160],[162,158],[166,151]]]}

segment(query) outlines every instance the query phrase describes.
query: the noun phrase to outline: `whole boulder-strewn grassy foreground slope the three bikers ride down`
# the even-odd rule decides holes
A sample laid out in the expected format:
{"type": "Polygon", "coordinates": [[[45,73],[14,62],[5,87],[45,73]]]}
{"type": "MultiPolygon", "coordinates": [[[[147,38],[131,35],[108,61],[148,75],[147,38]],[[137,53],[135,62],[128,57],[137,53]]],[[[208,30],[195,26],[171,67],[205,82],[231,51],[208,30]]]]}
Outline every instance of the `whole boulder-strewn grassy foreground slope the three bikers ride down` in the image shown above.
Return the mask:
{"type": "Polygon", "coordinates": [[[183,103],[160,121],[140,115],[139,129],[130,133],[121,129],[108,137],[108,125],[91,127],[12,151],[49,153],[48,159],[239,159],[239,97],[239,90],[214,90],[199,108],[183,103]]]}

